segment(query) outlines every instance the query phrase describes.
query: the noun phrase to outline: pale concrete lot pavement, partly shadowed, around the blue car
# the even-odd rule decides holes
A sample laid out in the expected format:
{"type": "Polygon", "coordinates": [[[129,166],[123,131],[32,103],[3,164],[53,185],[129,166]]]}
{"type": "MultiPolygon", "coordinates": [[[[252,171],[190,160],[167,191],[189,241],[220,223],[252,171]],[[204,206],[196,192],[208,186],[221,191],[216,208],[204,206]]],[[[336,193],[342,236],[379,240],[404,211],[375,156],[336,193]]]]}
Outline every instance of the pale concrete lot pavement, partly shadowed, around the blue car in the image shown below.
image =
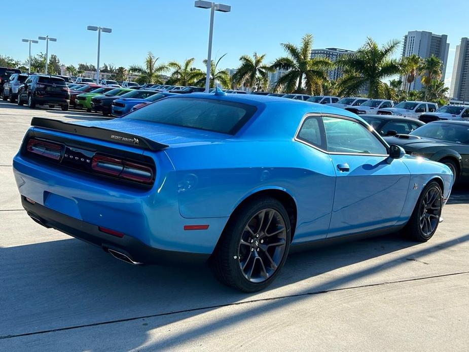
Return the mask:
{"type": "Polygon", "coordinates": [[[134,267],[30,220],[12,157],[33,116],[0,101],[0,350],[469,350],[469,192],[427,243],[400,234],[291,255],[243,294],[208,267],[134,267]]]}

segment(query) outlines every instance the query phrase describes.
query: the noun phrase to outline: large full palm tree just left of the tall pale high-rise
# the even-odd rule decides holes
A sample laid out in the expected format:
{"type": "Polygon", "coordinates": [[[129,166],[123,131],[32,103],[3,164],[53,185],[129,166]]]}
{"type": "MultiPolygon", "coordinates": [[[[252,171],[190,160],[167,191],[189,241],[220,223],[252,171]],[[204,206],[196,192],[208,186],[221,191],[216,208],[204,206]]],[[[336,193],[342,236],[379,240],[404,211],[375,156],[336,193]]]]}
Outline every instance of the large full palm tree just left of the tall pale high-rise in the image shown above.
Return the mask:
{"type": "Polygon", "coordinates": [[[368,97],[383,96],[386,87],[383,80],[401,72],[398,60],[391,55],[399,47],[398,40],[392,40],[381,48],[371,38],[363,47],[350,55],[342,55],[336,64],[344,69],[340,79],[341,95],[356,95],[368,87],[368,97]]]}

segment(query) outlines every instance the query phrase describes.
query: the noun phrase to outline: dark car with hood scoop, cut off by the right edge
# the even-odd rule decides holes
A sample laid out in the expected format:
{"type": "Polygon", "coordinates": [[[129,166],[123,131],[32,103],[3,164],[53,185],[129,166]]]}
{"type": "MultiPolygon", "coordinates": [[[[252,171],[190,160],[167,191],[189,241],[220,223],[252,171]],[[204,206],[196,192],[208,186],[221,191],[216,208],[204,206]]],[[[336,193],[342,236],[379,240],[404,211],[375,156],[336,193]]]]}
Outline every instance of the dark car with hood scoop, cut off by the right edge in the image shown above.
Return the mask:
{"type": "Polygon", "coordinates": [[[409,134],[384,139],[389,145],[401,146],[407,154],[447,165],[455,182],[469,181],[469,121],[430,122],[409,134]]]}

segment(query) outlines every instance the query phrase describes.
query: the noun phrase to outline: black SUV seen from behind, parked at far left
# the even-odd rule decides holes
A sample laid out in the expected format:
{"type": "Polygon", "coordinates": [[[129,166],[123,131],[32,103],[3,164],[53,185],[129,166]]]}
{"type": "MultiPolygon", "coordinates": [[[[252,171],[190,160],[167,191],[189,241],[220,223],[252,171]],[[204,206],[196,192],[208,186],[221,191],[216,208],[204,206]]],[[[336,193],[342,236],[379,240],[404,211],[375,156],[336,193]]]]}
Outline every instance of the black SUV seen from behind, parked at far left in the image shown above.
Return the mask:
{"type": "Polygon", "coordinates": [[[49,108],[60,105],[63,111],[67,111],[70,93],[63,78],[30,75],[18,89],[18,105],[26,102],[31,109],[34,109],[36,104],[47,104],[49,108]]]}

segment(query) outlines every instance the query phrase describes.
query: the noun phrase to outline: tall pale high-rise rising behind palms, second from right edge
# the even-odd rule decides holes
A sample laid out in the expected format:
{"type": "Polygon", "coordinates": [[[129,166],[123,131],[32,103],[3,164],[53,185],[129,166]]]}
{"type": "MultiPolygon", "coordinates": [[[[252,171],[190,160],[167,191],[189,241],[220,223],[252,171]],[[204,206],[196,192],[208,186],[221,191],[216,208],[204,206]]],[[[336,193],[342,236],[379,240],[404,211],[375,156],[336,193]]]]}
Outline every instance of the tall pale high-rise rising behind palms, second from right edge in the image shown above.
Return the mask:
{"type": "MultiPolygon", "coordinates": [[[[402,56],[410,56],[416,54],[421,58],[427,58],[431,55],[439,57],[442,62],[442,77],[441,80],[445,79],[446,64],[448,61],[449,43],[447,43],[448,36],[446,34],[434,34],[424,30],[413,30],[408,32],[404,36],[404,43],[402,49],[402,56]]],[[[403,89],[405,90],[421,90],[422,81],[421,77],[417,76],[410,84],[407,83],[406,76],[401,77],[403,81],[403,89]]]]}

